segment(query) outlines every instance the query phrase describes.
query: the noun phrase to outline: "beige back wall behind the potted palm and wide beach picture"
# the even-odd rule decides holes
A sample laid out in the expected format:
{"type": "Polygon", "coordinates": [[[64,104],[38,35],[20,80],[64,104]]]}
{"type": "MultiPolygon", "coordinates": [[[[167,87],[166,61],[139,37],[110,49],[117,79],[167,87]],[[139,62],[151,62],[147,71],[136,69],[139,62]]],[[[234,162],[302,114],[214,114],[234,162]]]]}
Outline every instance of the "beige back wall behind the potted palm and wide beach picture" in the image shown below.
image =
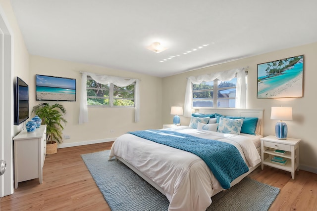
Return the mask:
{"type": "MultiPolygon", "coordinates": [[[[64,105],[67,111],[65,118],[68,124],[63,134],[70,136],[70,139],[63,140],[60,147],[79,145],[87,141],[113,140],[127,131],[162,127],[160,115],[162,107],[161,78],[34,55],[30,56],[29,69],[30,109],[39,103],[48,102],[51,104],[56,102],[35,100],[36,74],[76,79],[77,101],[58,102],[64,105]],[[82,91],[80,89],[80,71],[140,79],[140,122],[134,123],[134,108],[88,107],[89,122],[79,125],[80,93],[82,91]],[[110,132],[110,130],[114,130],[114,132],[110,132]]],[[[31,116],[33,117],[34,114],[31,116]]]]}

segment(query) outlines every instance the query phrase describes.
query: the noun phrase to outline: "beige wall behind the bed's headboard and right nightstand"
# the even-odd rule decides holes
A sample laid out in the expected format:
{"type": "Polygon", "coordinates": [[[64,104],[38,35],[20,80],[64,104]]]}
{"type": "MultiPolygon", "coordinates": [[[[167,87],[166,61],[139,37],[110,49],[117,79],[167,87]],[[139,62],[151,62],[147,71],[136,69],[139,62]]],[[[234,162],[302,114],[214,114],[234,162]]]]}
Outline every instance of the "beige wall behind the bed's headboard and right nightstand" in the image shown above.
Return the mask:
{"type": "MultiPolygon", "coordinates": [[[[302,139],[300,143],[300,167],[317,173],[317,141],[315,137],[316,103],[316,58],[317,42],[279,50],[263,55],[244,58],[215,65],[183,74],[163,78],[162,81],[162,121],[172,123],[170,107],[184,106],[186,78],[233,68],[248,69],[247,108],[264,109],[264,135],[275,134],[276,121],[270,120],[272,106],[290,106],[293,108],[293,121],[287,121],[288,137],[302,139]],[[257,64],[304,54],[304,97],[284,99],[257,99],[257,64]]],[[[190,118],[181,116],[181,124],[188,125],[190,118]]]]}

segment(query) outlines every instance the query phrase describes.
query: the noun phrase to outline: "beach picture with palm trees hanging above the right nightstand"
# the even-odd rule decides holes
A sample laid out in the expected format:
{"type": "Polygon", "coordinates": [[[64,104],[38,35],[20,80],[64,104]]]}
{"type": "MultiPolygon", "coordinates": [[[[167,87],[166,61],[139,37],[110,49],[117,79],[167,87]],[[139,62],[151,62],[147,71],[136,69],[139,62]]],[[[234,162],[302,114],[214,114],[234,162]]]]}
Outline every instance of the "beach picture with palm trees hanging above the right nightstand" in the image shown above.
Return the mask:
{"type": "Polygon", "coordinates": [[[303,97],[304,55],[258,64],[257,98],[303,97]]]}

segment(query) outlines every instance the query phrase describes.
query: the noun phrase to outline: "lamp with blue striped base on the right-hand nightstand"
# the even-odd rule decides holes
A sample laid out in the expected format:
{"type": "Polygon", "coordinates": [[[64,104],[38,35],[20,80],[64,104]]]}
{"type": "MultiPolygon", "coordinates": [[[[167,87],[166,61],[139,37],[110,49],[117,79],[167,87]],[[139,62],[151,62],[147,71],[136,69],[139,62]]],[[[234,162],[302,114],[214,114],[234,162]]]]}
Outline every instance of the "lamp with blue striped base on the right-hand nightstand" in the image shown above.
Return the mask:
{"type": "Polygon", "coordinates": [[[277,139],[287,138],[287,125],[284,121],[293,120],[292,107],[272,107],[271,120],[279,120],[275,125],[275,135],[277,139]]]}

